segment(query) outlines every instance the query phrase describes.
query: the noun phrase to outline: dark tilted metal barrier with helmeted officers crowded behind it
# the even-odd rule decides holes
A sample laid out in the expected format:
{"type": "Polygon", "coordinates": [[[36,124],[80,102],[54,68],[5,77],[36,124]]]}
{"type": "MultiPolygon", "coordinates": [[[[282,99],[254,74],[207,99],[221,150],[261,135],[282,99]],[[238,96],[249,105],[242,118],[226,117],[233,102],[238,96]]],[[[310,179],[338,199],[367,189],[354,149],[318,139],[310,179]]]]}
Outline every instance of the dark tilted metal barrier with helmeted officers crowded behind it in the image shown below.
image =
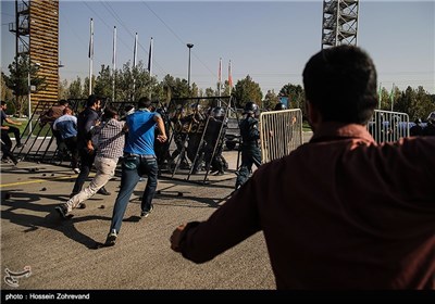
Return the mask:
{"type": "Polygon", "coordinates": [[[231,97],[201,97],[172,99],[165,121],[167,143],[157,149],[159,169],[170,178],[206,183],[212,164],[228,163],[222,155],[227,128],[227,117],[232,109],[231,97]],[[211,112],[220,106],[219,118],[211,112]]]}

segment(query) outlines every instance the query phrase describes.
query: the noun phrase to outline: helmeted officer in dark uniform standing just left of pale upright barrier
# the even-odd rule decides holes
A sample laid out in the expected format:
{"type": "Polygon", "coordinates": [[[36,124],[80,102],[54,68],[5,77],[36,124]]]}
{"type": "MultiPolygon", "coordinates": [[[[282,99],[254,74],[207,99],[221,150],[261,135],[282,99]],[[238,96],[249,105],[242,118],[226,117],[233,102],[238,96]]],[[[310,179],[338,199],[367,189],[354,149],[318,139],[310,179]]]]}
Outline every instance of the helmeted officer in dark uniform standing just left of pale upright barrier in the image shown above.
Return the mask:
{"type": "Polygon", "coordinates": [[[241,165],[237,174],[236,189],[244,185],[249,178],[252,164],[257,167],[261,165],[259,121],[256,118],[259,109],[256,103],[250,101],[246,103],[244,110],[246,117],[239,124],[241,136],[241,165]]]}

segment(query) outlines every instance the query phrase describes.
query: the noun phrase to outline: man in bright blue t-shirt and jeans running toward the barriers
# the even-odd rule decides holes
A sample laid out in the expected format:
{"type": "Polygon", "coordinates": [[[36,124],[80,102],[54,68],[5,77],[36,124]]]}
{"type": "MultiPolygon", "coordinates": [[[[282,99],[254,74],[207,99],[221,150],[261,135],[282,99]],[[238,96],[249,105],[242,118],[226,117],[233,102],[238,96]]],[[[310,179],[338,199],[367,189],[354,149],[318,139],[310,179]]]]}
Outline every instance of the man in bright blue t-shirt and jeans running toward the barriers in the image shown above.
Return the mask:
{"type": "Polygon", "coordinates": [[[164,123],[159,113],[151,112],[151,100],[142,97],[138,102],[138,110],[126,116],[128,137],[124,149],[122,164],[121,189],[113,207],[110,232],[105,245],[111,246],[116,242],[117,233],[127,208],[129,198],[140,177],[146,175],[147,186],[141,200],[141,217],[147,217],[153,210],[152,199],[158,183],[158,164],[154,153],[154,129],[160,130],[157,140],[167,140],[164,123]]]}

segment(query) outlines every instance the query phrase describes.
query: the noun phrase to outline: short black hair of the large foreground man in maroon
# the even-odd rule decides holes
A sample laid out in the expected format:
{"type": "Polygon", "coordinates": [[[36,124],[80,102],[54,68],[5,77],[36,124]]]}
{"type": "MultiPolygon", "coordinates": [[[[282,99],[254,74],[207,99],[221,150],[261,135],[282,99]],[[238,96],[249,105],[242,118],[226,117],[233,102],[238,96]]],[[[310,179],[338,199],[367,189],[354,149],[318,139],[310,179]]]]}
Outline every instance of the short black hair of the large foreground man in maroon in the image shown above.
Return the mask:
{"type": "Polygon", "coordinates": [[[366,124],[377,105],[376,85],[372,59],[353,46],[324,49],[303,69],[306,98],[323,122],[366,124]]]}

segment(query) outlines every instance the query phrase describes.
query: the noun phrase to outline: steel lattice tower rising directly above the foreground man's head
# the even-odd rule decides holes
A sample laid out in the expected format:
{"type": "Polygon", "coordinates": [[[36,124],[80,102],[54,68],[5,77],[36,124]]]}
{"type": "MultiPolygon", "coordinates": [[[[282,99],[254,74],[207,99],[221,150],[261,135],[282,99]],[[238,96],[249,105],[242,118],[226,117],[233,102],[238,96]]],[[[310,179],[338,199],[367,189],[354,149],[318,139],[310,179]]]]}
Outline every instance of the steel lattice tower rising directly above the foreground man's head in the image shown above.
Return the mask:
{"type": "Polygon", "coordinates": [[[322,49],[357,46],[358,0],[323,0],[322,49]]]}

